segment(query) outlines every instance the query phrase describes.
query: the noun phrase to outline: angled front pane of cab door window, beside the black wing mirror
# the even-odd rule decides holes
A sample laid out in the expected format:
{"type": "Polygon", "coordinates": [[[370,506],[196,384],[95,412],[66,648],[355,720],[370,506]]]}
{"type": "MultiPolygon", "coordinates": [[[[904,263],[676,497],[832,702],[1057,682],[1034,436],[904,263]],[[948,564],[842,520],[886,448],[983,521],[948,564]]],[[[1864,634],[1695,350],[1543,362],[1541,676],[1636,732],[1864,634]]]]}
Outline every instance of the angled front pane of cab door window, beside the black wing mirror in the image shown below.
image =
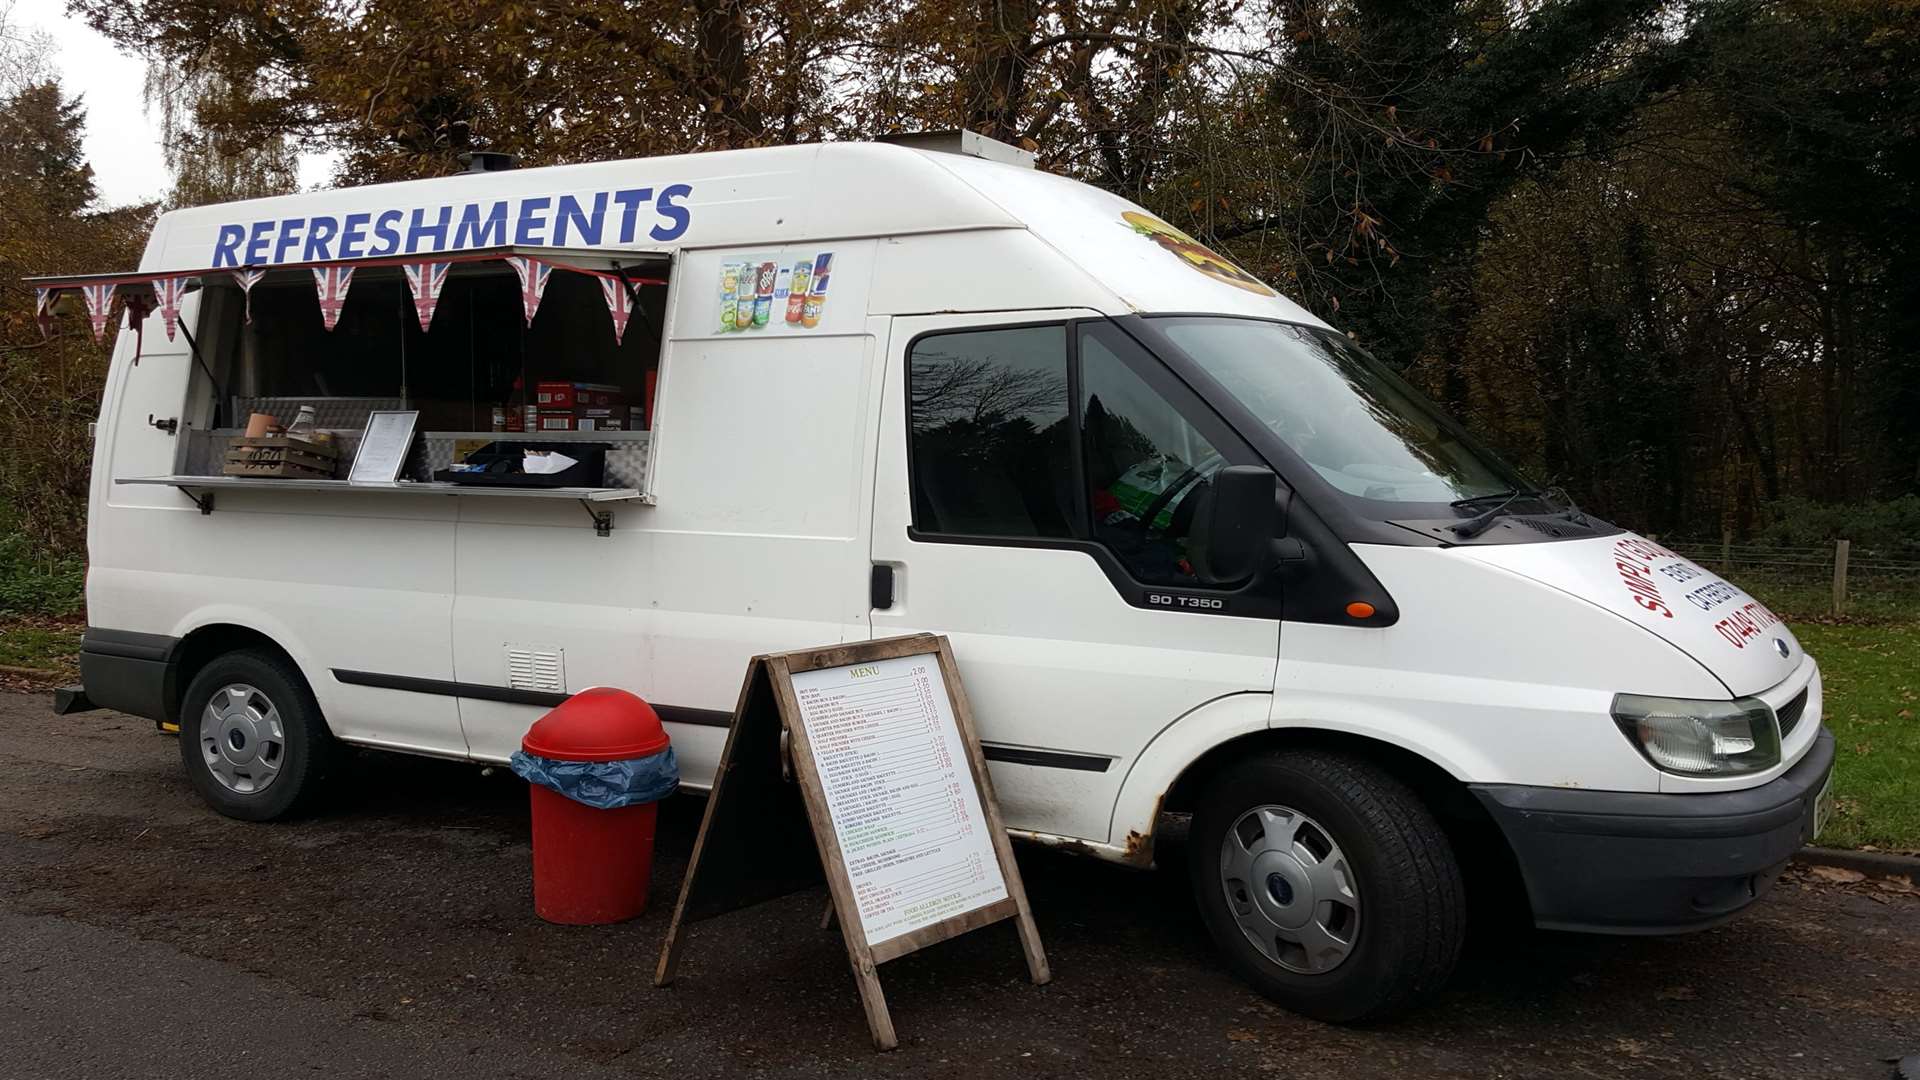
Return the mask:
{"type": "Polygon", "coordinates": [[[1196,584],[1187,557],[1194,515],[1227,461],[1165,398],[1123,361],[1139,350],[1108,325],[1079,340],[1081,454],[1092,538],[1146,584],[1196,584]]]}

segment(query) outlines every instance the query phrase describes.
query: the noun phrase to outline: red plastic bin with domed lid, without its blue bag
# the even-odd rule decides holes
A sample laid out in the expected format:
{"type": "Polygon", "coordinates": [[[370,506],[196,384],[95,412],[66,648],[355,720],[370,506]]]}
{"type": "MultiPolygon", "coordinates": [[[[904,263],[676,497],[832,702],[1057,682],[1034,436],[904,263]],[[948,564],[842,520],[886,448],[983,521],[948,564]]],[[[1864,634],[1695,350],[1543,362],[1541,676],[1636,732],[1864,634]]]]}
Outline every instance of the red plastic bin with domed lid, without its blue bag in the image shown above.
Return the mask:
{"type": "MultiPolygon", "coordinates": [[[[668,748],[653,705],[597,686],[534,721],[520,749],[553,761],[624,761],[668,748]]],[[[595,809],[530,784],[534,798],[534,913],[547,922],[597,926],[647,907],[655,803],[595,809]]]]}

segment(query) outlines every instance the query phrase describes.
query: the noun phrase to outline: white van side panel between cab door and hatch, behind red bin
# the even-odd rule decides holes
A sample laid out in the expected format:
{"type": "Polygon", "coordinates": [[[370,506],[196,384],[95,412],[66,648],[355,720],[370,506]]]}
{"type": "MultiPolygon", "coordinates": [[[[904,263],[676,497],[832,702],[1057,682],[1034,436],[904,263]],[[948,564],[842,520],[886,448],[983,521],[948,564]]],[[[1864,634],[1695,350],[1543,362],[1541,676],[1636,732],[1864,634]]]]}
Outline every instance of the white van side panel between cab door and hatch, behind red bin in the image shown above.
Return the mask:
{"type": "MultiPolygon", "coordinates": [[[[505,686],[507,650],[564,651],[566,690],[660,709],[707,786],[755,653],[866,638],[870,438],[879,350],[874,242],[691,252],[674,269],[653,442],[657,505],[463,500],[453,617],[461,682],[505,686]],[[791,267],[831,248],[812,329],[718,331],[720,265],[791,267]]],[[[883,329],[883,323],[881,323],[883,329]]],[[[540,707],[461,700],[472,755],[518,749],[540,707]]]]}

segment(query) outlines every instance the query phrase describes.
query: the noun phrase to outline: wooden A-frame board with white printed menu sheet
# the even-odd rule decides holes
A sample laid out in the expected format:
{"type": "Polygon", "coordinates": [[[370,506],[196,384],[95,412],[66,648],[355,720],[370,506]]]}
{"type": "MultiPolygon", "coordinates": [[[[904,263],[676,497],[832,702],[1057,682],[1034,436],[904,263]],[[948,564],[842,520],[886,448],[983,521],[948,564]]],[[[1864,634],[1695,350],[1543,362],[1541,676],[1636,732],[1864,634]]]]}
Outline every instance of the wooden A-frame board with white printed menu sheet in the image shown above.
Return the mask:
{"type": "Polygon", "coordinates": [[[822,876],[879,1049],[899,1040],[876,965],[1014,919],[1050,978],[947,638],[753,657],[655,984],[689,922],[822,876]]]}

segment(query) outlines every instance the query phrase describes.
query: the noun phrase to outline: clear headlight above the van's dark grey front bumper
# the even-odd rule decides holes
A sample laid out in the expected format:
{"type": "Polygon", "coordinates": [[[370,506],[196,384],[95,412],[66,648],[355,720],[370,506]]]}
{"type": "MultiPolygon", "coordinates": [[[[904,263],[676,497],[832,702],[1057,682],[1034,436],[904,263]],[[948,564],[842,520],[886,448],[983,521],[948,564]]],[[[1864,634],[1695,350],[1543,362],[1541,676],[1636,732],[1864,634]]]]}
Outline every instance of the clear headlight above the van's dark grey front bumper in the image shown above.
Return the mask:
{"type": "Polygon", "coordinates": [[[1668,773],[1728,776],[1780,765],[1780,723],[1757,698],[1692,701],[1615,694],[1613,719],[1647,761],[1668,773]]]}

